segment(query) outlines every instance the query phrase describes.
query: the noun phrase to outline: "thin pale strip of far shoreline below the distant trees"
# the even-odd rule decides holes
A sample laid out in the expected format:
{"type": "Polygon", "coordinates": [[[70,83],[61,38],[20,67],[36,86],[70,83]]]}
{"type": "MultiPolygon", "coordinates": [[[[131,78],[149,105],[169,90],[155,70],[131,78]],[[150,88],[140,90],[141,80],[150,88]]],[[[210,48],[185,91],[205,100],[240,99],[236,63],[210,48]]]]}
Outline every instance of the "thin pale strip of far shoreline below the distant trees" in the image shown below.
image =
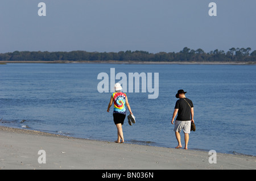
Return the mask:
{"type": "Polygon", "coordinates": [[[256,65],[256,62],[167,62],[167,61],[0,61],[4,64],[202,64],[202,65],[256,65]]]}

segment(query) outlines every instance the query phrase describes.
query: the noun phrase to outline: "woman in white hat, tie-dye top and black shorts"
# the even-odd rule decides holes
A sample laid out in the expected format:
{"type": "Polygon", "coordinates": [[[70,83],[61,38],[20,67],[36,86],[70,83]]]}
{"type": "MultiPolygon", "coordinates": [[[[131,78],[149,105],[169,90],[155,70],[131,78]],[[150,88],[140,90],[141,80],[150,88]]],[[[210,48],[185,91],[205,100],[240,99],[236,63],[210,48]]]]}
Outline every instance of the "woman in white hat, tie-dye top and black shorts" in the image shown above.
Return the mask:
{"type": "Polygon", "coordinates": [[[120,83],[115,83],[114,88],[115,88],[115,92],[112,94],[110,98],[107,111],[109,112],[110,107],[114,103],[113,118],[114,118],[115,126],[117,127],[117,141],[115,142],[122,143],[125,141],[123,139],[122,125],[126,116],[126,106],[130,111],[130,114],[132,115],[133,113],[131,112],[131,108],[130,108],[126,94],[121,91],[122,86],[120,85],[120,83]]]}

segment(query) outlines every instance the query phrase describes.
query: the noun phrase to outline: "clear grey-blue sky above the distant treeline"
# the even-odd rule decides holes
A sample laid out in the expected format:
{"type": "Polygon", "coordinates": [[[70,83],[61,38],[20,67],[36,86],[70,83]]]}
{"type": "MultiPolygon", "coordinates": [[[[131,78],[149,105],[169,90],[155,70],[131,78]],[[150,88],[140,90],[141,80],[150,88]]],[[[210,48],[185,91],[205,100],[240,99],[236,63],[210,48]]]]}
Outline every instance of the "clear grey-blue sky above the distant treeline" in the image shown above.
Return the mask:
{"type": "Polygon", "coordinates": [[[1,0],[0,53],[256,50],[255,0],[1,0]],[[46,16],[38,3],[46,3],[46,16]],[[210,2],[217,16],[209,16],[210,2]]]}

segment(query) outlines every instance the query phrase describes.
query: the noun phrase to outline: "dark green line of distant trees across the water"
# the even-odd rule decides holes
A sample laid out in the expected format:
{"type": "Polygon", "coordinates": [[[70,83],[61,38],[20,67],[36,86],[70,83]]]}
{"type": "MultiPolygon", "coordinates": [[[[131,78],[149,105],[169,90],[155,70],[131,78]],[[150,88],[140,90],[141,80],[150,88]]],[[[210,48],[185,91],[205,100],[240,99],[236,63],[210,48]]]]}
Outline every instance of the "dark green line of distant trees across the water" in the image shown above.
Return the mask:
{"type": "Polygon", "coordinates": [[[256,50],[251,48],[230,48],[228,52],[214,50],[205,53],[203,49],[183,48],[180,52],[148,53],[146,51],[115,52],[28,52],[0,53],[0,61],[167,61],[167,62],[255,62],[256,50]]]}

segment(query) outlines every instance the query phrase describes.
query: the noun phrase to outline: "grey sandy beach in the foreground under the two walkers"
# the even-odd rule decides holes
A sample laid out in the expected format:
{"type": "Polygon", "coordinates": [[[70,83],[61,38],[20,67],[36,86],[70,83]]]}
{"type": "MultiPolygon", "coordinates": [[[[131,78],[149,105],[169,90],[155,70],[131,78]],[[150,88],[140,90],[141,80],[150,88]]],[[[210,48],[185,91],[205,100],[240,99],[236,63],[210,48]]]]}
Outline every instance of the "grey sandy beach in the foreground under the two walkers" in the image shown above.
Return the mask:
{"type": "Polygon", "coordinates": [[[7,127],[0,127],[0,153],[1,170],[256,169],[256,158],[247,155],[217,153],[216,163],[209,163],[208,151],[117,144],[7,127]]]}

